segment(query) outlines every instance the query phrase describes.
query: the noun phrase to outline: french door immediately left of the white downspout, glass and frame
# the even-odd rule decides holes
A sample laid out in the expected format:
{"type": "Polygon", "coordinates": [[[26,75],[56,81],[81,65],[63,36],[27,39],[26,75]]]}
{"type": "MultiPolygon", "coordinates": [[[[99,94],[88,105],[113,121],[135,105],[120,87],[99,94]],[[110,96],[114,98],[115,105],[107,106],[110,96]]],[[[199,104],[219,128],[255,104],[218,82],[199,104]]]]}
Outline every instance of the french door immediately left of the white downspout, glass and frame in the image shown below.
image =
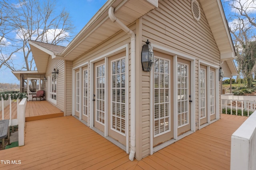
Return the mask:
{"type": "Polygon", "coordinates": [[[125,52],[108,58],[108,136],[126,146],[127,69],[125,52]]]}

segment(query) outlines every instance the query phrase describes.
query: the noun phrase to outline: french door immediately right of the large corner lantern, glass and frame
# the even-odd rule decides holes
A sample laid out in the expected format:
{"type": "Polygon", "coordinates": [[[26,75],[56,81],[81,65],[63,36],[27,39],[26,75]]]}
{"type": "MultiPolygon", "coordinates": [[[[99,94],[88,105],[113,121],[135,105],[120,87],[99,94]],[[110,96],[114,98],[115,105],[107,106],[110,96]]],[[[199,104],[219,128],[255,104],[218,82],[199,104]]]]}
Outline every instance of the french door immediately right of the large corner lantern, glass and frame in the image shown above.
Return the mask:
{"type": "Polygon", "coordinates": [[[155,52],[153,86],[153,147],[174,137],[172,56],[155,52]]]}

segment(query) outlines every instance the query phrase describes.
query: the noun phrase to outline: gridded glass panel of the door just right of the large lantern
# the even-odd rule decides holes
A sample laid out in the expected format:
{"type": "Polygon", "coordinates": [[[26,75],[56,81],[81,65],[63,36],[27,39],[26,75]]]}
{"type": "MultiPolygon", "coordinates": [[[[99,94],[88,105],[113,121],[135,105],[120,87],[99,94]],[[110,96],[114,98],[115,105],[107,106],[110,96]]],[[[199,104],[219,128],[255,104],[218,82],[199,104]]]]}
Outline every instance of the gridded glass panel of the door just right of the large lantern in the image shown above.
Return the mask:
{"type": "Polygon", "coordinates": [[[170,131],[170,62],[154,61],[154,136],[170,131]]]}

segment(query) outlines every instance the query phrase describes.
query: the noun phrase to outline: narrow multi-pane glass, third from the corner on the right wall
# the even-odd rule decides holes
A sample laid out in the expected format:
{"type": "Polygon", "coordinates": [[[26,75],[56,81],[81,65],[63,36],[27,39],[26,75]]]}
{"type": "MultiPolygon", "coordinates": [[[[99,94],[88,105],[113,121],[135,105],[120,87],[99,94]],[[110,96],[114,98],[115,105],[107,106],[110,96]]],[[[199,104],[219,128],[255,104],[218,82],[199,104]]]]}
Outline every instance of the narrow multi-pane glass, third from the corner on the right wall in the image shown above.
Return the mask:
{"type": "Polygon", "coordinates": [[[203,68],[200,68],[200,94],[199,94],[199,100],[200,100],[200,108],[199,108],[199,114],[200,119],[206,117],[206,70],[203,68]]]}

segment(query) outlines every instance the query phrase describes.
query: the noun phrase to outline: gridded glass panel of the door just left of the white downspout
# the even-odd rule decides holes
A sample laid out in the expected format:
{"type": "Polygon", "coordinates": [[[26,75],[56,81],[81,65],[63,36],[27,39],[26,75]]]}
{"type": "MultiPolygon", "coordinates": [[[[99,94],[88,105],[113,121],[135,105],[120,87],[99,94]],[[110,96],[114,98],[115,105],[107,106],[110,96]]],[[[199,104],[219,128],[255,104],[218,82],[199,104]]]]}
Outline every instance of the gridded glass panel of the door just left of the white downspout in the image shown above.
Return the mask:
{"type": "Polygon", "coordinates": [[[126,69],[125,58],[112,61],[111,63],[111,124],[112,129],[125,134],[126,124],[126,104],[125,104],[125,84],[126,84],[126,69]]]}

